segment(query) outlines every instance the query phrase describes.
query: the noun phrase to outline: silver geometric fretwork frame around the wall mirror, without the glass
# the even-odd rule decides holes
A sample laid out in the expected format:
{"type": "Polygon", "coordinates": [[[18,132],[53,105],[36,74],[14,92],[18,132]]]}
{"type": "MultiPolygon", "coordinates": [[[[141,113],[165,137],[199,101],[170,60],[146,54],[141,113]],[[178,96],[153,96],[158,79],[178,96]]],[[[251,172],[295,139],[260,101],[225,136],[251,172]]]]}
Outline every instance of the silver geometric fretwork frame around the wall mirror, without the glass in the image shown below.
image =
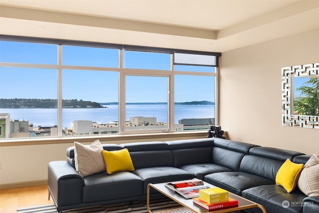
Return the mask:
{"type": "Polygon", "coordinates": [[[293,78],[319,77],[319,63],[282,68],[282,125],[319,129],[319,116],[295,115],[293,112],[293,78]]]}

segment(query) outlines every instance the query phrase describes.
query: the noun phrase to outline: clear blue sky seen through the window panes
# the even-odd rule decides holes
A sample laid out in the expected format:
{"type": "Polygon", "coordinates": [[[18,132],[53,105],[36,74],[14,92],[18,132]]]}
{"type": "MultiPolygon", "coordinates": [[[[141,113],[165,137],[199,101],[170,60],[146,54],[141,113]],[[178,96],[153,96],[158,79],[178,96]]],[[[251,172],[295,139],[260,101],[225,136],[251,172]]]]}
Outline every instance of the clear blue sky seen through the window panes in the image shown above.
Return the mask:
{"type": "MultiPolygon", "coordinates": [[[[126,67],[169,70],[168,54],[127,52],[126,67]]],[[[57,45],[0,41],[0,61],[57,64],[57,45]]],[[[118,67],[118,50],[63,46],[63,64],[118,67]]],[[[176,66],[187,70],[193,66],[176,66]]],[[[196,71],[212,69],[196,67],[196,71]]],[[[194,70],[194,69],[193,69],[194,70]]],[[[152,70],[150,70],[152,74],[152,70]]],[[[63,70],[63,99],[118,101],[118,72],[63,70]]],[[[166,102],[166,77],[128,76],[126,102],[166,102]]],[[[0,98],[57,98],[57,70],[0,68],[0,98]]],[[[175,102],[214,101],[214,77],[175,75],[175,102]]]]}

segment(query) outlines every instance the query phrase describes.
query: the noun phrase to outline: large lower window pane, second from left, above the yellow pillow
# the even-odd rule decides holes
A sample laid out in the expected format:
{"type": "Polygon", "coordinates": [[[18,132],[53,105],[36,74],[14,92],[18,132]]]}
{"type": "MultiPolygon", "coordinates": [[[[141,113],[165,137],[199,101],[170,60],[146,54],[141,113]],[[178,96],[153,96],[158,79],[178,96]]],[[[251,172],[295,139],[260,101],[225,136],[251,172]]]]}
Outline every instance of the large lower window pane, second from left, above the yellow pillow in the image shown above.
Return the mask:
{"type": "Polygon", "coordinates": [[[119,120],[118,88],[118,72],[63,70],[62,126],[65,133],[117,133],[118,125],[114,122],[119,120]]]}

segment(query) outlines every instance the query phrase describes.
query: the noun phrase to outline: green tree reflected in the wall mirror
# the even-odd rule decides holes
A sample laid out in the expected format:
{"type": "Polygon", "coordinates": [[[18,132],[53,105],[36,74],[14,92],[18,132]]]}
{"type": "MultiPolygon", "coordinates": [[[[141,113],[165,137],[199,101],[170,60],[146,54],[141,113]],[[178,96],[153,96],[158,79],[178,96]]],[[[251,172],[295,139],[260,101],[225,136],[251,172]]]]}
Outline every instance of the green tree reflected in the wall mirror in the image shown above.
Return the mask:
{"type": "Polygon", "coordinates": [[[319,116],[319,78],[310,78],[296,90],[301,94],[294,100],[294,111],[298,115],[319,116]]]}

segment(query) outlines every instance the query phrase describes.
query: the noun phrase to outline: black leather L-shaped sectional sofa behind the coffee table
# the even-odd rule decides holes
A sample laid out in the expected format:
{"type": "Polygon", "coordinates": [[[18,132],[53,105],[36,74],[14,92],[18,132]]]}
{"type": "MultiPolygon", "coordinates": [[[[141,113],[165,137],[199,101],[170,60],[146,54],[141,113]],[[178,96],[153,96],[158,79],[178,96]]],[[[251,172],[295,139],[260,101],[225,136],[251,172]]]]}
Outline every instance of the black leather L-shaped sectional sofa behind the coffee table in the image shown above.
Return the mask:
{"type": "MultiPolygon", "coordinates": [[[[58,212],[145,199],[149,183],[192,178],[259,203],[268,213],[319,212],[319,196],[308,197],[298,187],[287,193],[276,185],[277,172],[287,159],[305,164],[310,155],[220,138],[102,146],[108,151],[127,149],[134,171],[83,177],[75,169],[75,148],[68,148],[66,161],[48,164],[49,198],[58,212]],[[283,205],[285,202],[290,205],[283,205]]],[[[260,210],[247,212],[251,211],[260,210]]]]}

